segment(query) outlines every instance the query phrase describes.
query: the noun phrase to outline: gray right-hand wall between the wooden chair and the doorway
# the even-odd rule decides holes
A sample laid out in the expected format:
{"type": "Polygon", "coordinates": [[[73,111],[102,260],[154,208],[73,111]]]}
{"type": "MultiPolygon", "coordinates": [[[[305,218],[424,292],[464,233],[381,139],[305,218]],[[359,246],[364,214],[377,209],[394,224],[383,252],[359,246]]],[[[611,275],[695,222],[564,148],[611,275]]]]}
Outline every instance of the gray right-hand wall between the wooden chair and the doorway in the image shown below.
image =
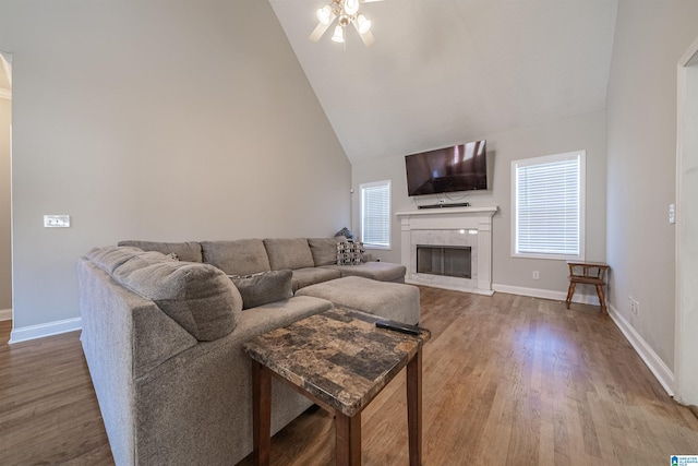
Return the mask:
{"type": "Polygon", "coordinates": [[[622,0],[607,96],[610,300],[672,370],[676,67],[698,36],[696,19],[695,0],[622,0]]]}

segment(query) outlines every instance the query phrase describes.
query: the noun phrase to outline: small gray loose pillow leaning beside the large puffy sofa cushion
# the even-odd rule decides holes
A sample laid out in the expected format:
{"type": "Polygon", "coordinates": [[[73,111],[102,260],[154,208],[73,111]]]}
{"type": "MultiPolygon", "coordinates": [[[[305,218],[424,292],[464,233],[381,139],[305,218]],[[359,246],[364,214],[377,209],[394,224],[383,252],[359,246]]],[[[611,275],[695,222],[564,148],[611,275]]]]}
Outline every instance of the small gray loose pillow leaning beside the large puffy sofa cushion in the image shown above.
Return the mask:
{"type": "Polygon", "coordinates": [[[293,296],[291,271],[270,271],[254,275],[230,275],[242,296],[242,309],[282,301],[293,296]]]}

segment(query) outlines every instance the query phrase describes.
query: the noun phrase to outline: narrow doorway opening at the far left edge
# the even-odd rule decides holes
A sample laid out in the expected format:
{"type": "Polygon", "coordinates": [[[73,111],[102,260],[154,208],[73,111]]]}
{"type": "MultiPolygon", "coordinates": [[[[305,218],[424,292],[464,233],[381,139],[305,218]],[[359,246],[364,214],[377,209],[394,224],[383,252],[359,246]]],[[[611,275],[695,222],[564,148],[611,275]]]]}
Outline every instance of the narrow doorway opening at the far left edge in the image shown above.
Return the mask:
{"type": "Polygon", "coordinates": [[[0,51],[0,320],[12,319],[12,56],[0,51]]]}

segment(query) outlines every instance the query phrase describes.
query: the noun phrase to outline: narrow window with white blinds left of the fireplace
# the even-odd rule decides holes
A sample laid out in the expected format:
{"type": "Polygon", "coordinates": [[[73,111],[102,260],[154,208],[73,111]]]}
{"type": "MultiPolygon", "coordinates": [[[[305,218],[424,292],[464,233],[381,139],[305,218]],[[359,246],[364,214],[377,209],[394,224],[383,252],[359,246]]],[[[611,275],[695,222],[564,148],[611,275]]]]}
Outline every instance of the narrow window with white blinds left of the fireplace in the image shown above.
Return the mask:
{"type": "Polygon", "coordinates": [[[390,181],[361,188],[361,240],[366,248],[390,249],[390,181]]]}

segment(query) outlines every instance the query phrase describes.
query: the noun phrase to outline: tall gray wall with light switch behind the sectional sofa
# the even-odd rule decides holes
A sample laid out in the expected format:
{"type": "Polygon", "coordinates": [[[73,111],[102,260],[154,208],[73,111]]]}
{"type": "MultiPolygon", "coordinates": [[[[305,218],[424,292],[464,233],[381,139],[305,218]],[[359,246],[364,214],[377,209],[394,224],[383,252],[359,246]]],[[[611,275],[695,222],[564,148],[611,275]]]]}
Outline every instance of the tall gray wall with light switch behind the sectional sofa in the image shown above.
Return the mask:
{"type": "Polygon", "coordinates": [[[15,330],[80,315],[75,261],[94,246],[350,219],[350,164],[265,1],[1,2],[0,49],[15,330]]]}

